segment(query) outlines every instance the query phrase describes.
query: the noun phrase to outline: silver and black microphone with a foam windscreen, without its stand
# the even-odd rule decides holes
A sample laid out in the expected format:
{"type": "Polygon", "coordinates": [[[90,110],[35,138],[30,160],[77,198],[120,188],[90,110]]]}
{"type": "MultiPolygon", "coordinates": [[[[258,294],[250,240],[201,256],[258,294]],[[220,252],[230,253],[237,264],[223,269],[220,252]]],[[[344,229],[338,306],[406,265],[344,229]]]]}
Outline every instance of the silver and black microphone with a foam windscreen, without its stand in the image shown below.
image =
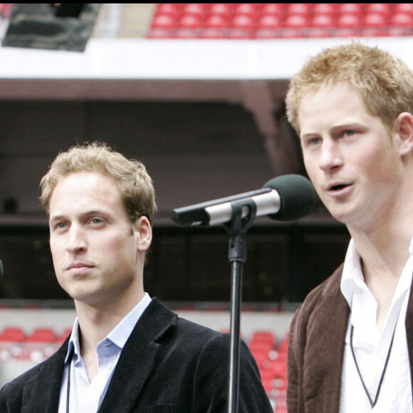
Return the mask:
{"type": "MultiPolygon", "coordinates": [[[[250,198],[256,204],[256,216],[268,215],[278,221],[292,221],[310,214],[317,196],[307,178],[289,174],[271,179],[257,191],[174,209],[171,218],[180,225],[224,224],[232,218],[231,202],[250,198]]],[[[246,205],[242,208],[242,217],[248,214],[249,206],[246,205]]]]}

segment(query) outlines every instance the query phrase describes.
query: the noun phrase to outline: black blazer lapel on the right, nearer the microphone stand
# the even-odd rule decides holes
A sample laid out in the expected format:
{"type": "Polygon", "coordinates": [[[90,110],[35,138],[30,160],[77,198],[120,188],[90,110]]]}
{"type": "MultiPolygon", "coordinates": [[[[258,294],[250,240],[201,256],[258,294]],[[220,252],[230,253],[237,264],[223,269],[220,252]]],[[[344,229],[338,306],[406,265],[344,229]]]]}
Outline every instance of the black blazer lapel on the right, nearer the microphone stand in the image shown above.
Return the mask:
{"type": "Polygon", "coordinates": [[[167,310],[157,298],[152,299],[123,347],[99,413],[127,413],[132,410],[155,367],[160,348],[156,340],[176,320],[176,314],[167,310]]]}

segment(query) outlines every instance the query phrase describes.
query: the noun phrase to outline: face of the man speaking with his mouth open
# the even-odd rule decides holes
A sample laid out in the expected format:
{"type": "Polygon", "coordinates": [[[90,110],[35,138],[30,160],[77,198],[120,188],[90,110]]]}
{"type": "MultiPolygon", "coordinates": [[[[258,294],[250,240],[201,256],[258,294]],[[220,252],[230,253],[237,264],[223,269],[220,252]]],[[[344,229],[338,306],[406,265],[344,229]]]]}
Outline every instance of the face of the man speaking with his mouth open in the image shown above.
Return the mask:
{"type": "Polygon", "coordinates": [[[391,214],[402,179],[397,145],[347,82],[303,97],[298,122],[308,176],[330,213],[367,230],[391,214]]]}

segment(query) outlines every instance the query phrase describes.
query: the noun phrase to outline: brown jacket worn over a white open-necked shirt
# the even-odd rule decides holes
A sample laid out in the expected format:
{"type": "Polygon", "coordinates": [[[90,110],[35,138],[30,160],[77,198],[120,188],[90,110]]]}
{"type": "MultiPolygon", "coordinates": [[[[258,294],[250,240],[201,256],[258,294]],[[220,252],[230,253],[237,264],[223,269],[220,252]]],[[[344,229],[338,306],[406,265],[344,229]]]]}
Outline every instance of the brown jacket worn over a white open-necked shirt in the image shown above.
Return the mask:
{"type": "MultiPolygon", "coordinates": [[[[296,311],[288,348],[288,413],[338,413],[350,307],[340,290],[343,265],[311,291],[296,311]]],[[[406,314],[413,377],[413,296],[406,314]]],[[[413,384],[412,384],[413,388],[413,384]]]]}

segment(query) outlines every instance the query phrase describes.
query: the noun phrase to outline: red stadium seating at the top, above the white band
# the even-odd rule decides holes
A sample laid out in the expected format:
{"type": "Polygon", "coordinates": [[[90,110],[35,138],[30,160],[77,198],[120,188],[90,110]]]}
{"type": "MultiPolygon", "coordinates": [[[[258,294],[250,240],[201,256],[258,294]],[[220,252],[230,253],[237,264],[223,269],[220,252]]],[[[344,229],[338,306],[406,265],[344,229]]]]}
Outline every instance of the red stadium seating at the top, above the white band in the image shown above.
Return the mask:
{"type": "Polygon", "coordinates": [[[409,36],[413,4],[158,4],[148,38],[409,36]]]}

